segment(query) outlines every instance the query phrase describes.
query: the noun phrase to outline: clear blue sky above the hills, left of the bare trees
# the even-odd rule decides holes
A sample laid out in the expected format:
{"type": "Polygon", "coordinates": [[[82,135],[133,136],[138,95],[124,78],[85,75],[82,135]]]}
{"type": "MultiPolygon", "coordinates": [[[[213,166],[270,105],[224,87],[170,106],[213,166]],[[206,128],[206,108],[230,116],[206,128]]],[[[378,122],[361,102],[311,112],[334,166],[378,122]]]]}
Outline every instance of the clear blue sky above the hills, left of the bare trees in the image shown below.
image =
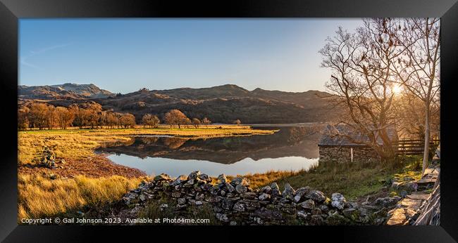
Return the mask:
{"type": "Polygon", "coordinates": [[[319,67],[328,36],[356,18],[20,19],[19,84],[325,91],[319,67]]]}

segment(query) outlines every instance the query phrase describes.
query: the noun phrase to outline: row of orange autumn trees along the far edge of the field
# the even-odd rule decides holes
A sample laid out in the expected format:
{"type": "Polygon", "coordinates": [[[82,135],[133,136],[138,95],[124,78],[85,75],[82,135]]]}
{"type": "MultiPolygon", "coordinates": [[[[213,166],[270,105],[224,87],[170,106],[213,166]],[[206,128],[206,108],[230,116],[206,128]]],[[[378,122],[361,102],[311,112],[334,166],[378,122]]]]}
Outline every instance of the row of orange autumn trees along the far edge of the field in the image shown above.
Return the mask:
{"type": "MultiPolygon", "coordinates": [[[[208,126],[211,120],[188,118],[180,110],[170,110],[163,116],[163,122],[172,126],[208,126]]],[[[234,124],[240,124],[237,119],[234,124]]],[[[161,119],[155,114],[144,114],[141,119],[144,127],[157,128],[161,124],[161,119]]],[[[113,110],[102,110],[98,103],[85,103],[80,105],[70,105],[69,107],[49,105],[47,103],[32,103],[18,109],[18,130],[26,129],[67,129],[70,126],[83,128],[133,128],[137,123],[135,116],[130,113],[113,112],[113,110]]]]}

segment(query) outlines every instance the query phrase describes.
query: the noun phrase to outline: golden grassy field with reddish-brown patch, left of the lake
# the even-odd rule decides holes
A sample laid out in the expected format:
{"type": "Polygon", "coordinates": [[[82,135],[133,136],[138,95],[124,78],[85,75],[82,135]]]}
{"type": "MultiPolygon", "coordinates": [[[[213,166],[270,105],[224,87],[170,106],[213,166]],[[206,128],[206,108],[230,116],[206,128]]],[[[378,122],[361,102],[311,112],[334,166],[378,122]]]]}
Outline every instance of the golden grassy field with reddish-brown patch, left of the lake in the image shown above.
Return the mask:
{"type": "Polygon", "coordinates": [[[18,219],[75,214],[87,207],[120,199],[147,176],[113,164],[94,149],[102,143],[128,141],[132,135],[170,135],[185,138],[247,136],[275,131],[249,126],[210,125],[195,128],[67,129],[18,133],[18,219]],[[56,169],[39,166],[44,146],[56,155],[56,169]]]}

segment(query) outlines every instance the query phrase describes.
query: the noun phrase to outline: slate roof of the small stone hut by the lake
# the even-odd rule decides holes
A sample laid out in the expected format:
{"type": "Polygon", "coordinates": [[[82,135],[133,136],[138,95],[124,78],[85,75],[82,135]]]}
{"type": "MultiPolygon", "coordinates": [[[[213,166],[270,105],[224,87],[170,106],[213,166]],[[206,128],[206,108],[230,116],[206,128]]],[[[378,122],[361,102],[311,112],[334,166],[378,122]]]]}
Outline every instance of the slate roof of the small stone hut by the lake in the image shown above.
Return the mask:
{"type": "MultiPolygon", "coordinates": [[[[391,140],[397,140],[397,131],[394,126],[389,126],[387,128],[388,136],[391,140]]],[[[323,131],[318,146],[366,146],[364,143],[353,143],[345,136],[339,136],[338,134],[345,134],[351,136],[355,141],[369,142],[369,137],[361,134],[359,131],[354,131],[350,126],[346,125],[328,125],[323,131]]],[[[378,137],[377,143],[382,145],[383,140],[378,137]]]]}

